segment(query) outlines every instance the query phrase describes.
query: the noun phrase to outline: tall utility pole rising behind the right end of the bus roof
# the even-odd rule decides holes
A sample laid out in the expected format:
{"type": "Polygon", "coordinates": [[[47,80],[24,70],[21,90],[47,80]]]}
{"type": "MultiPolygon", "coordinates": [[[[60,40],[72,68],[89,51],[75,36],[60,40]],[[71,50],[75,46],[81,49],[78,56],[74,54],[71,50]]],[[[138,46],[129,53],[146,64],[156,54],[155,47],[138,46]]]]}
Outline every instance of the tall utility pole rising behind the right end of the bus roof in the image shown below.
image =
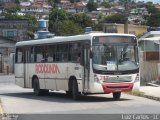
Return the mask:
{"type": "Polygon", "coordinates": [[[124,14],[125,14],[124,33],[128,34],[128,17],[129,17],[129,11],[130,11],[128,0],[125,1],[124,7],[125,7],[125,11],[124,11],[124,14]]]}

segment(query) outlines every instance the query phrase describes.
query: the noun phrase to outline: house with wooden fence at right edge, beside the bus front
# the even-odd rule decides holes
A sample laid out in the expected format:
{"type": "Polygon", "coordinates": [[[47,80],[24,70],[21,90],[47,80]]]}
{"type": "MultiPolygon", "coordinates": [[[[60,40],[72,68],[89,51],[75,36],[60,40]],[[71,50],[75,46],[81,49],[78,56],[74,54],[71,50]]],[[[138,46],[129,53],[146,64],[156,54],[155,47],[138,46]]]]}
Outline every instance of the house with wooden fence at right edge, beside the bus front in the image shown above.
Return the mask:
{"type": "Polygon", "coordinates": [[[150,31],[139,39],[140,74],[143,83],[160,78],[160,31],[150,31]]]}

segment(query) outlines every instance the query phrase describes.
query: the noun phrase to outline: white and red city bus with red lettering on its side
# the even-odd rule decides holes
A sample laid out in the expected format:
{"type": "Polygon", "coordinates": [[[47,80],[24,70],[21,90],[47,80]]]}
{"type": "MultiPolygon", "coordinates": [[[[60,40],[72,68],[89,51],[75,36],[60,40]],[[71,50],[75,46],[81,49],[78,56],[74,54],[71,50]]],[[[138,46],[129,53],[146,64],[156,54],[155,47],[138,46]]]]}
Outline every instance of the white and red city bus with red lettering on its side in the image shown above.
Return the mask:
{"type": "Polygon", "coordinates": [[[80,95],[131,91],[139,82],[138,45],[134,35],[89,33],[18,42],[16,84],[35,95],[63,90],[80,95]]]}

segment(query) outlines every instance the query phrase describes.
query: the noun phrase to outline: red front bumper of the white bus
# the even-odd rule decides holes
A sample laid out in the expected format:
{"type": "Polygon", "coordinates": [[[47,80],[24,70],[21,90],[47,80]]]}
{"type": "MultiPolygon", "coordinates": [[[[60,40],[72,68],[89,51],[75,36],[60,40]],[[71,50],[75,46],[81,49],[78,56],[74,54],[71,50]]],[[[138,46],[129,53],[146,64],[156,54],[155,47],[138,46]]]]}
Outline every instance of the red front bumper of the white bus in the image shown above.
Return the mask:
{"type": "Polygon", "coordinates": [[[104,93],[129,92],[133,89],[133,83],[102,84],[104,93]]]}

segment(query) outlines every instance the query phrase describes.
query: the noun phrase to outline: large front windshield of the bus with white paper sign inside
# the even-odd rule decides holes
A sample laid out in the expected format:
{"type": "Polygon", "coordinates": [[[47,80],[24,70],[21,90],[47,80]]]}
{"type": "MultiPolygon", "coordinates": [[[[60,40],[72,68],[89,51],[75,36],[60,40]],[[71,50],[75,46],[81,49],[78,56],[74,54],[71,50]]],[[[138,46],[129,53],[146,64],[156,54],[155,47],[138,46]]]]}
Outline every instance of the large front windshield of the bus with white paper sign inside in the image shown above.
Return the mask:
{"type": "Polygon", "coordinates": [[[93,69],[132,71],[138,69],[138,48],[135,37],[93,37],[93,69]]]}

